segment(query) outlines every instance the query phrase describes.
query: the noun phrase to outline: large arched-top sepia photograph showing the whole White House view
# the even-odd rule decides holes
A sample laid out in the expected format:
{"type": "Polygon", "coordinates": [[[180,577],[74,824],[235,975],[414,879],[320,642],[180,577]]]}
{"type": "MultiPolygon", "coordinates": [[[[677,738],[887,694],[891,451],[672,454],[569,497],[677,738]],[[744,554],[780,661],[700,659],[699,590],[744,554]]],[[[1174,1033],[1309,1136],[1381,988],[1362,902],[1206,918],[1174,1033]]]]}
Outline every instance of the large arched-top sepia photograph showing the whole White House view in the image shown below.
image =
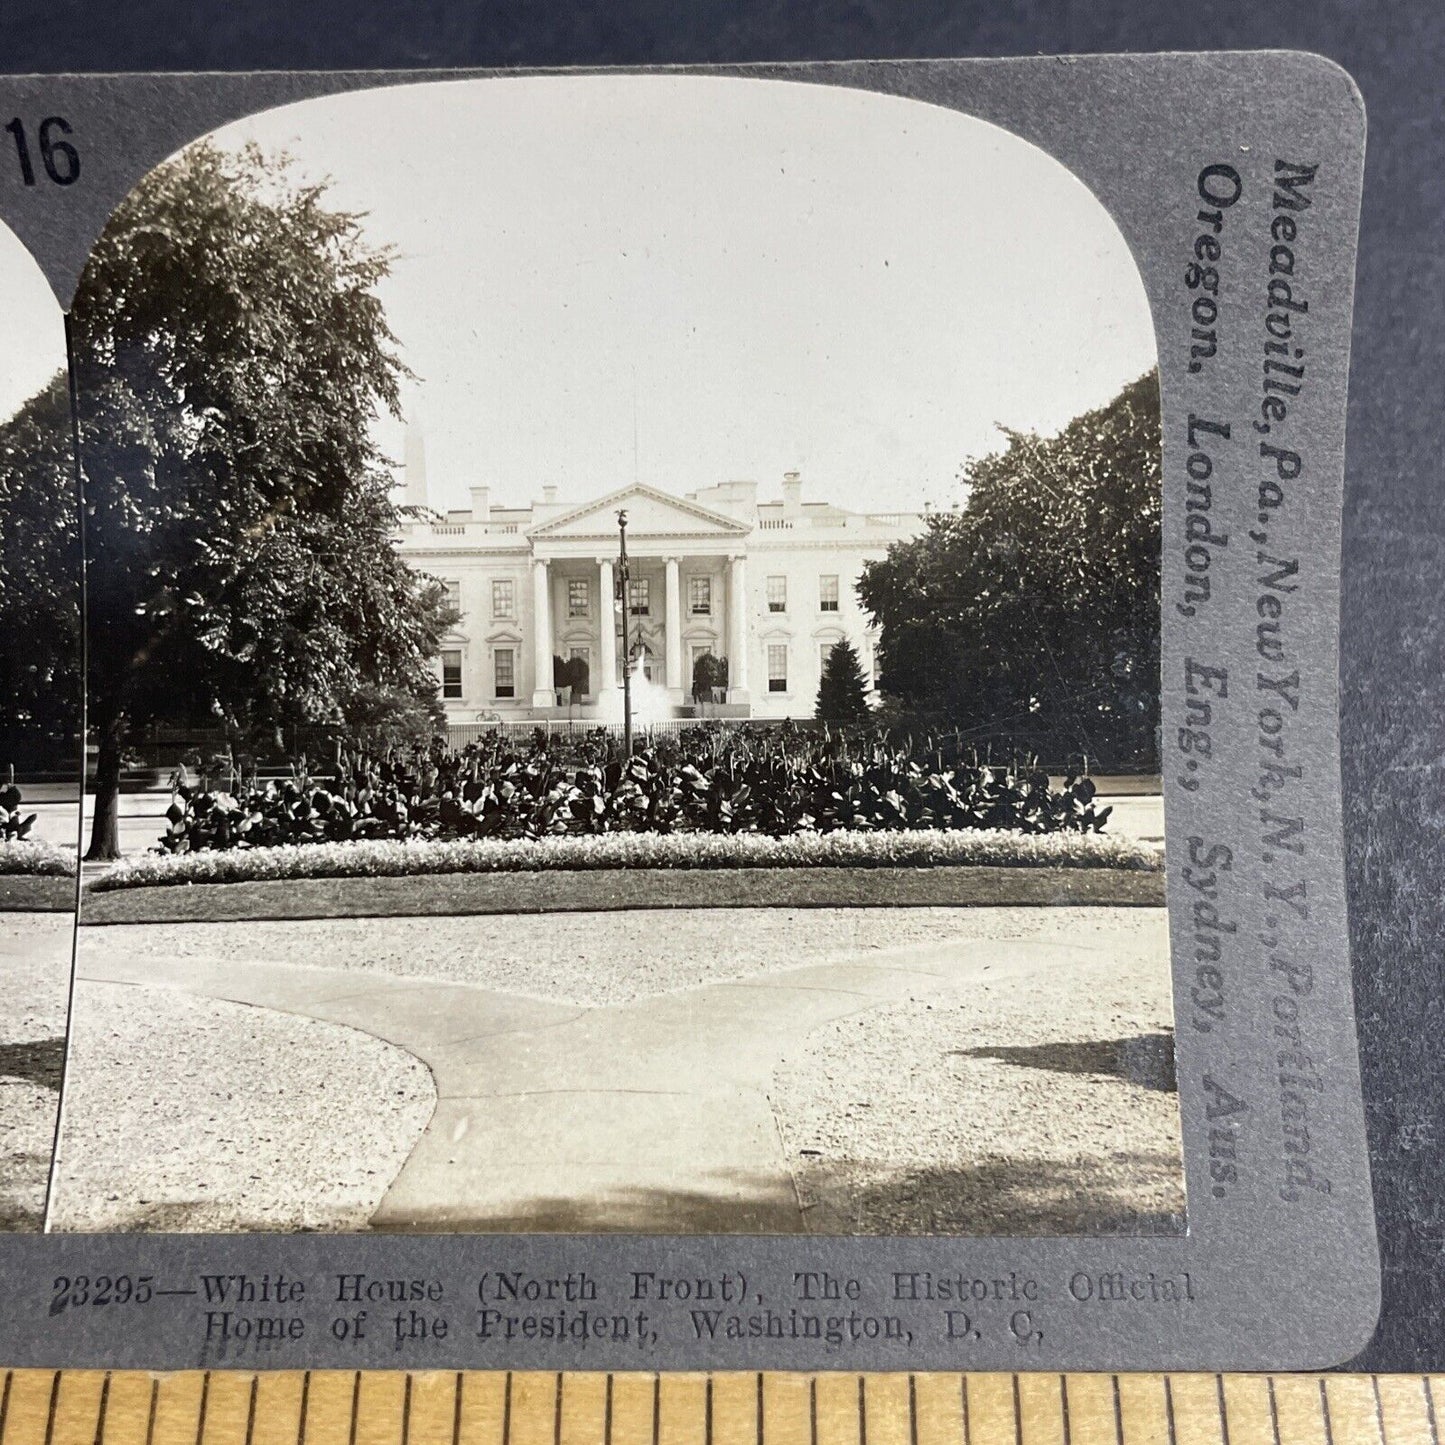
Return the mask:
{"type": "Polygon", "coordinates": [[[1159,358],[1069,169],[717,75],[250,116],[90,254],[82,529],[6,256],[49,1228],[1183,1233],[1159,358]]]}

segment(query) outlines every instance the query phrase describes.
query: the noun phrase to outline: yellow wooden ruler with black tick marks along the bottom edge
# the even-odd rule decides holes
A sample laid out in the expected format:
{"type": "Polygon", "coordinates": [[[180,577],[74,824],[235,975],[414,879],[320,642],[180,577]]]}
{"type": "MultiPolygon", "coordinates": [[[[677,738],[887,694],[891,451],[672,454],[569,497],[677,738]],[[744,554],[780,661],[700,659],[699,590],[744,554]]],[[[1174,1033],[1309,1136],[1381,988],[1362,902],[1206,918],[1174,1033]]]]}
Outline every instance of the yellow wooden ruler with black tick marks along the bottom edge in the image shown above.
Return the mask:
{"type": "Polygon", "coordinates": [[[14,1370],[0,1445],[1441,1445],[1423,1376],[14,1370]]]}

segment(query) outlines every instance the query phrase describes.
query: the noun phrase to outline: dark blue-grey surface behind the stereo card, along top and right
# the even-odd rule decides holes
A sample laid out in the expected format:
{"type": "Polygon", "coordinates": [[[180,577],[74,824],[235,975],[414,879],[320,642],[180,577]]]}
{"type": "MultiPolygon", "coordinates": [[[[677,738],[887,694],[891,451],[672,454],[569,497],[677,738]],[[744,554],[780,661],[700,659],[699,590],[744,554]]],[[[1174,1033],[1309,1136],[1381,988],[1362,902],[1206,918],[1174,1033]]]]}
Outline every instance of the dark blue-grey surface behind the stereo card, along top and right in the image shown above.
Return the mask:
{"type": "Polygon", "coordinates": [[[1350,392],[1344,788],[1384,1264],[1358,1367],[1445,1366],[1442,0],[0,0],[0,69],[704,64],[1318,51],[1370,120],[1350,392]]]}

